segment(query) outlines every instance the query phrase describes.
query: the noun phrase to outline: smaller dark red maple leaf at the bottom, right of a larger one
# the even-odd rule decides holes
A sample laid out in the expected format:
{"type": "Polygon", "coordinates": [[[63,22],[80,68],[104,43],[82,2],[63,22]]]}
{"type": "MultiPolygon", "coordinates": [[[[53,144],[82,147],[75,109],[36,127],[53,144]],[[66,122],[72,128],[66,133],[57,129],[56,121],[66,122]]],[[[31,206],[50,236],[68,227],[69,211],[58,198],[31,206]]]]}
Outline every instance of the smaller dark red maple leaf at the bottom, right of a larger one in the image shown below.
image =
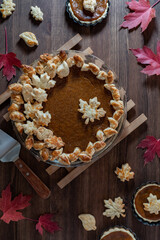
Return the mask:
{"type": "Polygon", "coordinates": [[[36,224],[36,230],[38,230],[41,235],[43,235],[43,228],[50,233],[60,230],[58,224],[51,221],[52,217],[53,214],[44,214],[39,217],[38,223],[36,224]]]}

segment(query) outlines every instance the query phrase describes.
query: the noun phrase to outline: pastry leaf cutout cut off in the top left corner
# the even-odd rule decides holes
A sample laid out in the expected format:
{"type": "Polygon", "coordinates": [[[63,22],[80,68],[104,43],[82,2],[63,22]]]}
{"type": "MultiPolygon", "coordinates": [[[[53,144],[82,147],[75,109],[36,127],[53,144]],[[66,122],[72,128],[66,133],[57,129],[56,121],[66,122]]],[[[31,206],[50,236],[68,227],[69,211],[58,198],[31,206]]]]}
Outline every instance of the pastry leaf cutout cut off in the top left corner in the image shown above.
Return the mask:
{"type": "Polygon", "coordinates": [[[16,6],[16,4],[13,3],[12,0],[3,0],[3,3],[1,4],[1,8],[0,8],[2,17],[6,18],[6,17],[12,15],[12,13],[15,10],[15,6],[16,6]]]}

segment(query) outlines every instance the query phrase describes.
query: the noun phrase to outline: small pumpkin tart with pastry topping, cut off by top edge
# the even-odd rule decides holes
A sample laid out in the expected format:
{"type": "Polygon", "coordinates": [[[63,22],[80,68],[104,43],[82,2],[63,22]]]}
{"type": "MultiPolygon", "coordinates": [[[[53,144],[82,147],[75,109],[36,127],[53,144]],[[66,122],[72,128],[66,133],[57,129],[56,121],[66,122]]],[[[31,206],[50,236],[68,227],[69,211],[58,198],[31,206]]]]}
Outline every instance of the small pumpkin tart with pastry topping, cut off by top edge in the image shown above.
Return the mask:
{"type": "Polygon", "coordinates": [[[69,16],[80,25],[90,26],[101,22],[108,13],[108,0],[68,0],[69,16]]]}

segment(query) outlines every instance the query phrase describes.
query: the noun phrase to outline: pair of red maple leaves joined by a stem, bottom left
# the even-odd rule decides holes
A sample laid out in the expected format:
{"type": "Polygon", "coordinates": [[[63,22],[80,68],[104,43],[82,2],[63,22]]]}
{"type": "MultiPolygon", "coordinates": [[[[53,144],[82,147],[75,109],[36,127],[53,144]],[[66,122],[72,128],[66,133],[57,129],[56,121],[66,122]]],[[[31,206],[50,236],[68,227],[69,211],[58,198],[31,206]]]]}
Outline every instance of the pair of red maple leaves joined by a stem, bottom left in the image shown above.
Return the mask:
{"type": "Polygon", "coordinates": [[[33,221],[36,222],[36,229],[41,235],[43,235],[43,229],[50,233],[60,230],[58,224],[52,221],[53,214],[41,215],[38,220],[27,218],[22,215],[20,210],[30,205],[30,196],[23,196],[22,193],[20,193],[13,200],[11,200],[11,198],[12,193],[9,184],[6,189],[2,191],[2,197],[0,198],[0,210],[3,212],[0,219],[5,223],[10,223],[10,221],[17,222],[23,219],[33,221]]]}

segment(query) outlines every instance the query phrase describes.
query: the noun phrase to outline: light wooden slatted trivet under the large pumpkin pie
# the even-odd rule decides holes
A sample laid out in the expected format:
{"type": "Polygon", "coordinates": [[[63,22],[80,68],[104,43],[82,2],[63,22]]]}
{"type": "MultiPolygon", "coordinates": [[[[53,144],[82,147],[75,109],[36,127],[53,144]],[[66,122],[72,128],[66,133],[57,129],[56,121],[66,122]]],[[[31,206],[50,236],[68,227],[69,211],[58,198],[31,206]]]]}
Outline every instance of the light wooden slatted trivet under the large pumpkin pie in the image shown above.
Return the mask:
{"type": "MultiPolygon", "coordinates": [[[[63,46],[61,46],[58,50],[70,50],[74,46],[76,46],[81,40],[82,40],[82,37],[79,34],[77,34],[72,39],[70,39],[68,42],[66,42],[63,46]]],[[[85,49],[83,52],[84,52],[84,54],[92,54],[93,53],[93,51],[90,47],[85,49]]],[[[104,64],[104,62],[101,60],[98,60],[98,62],[96,62],[96,64],[99,67],[101,67],[104,64]]],[[[122,92],[125,92],[124,89],[122,89],[122,92]]],[[[9,97],[10,97],[10,92],[7,90],[6,92],[4,92],[3,94],[0,95],[0,104],[2,102],[4,102],[6,99],[8,99],[9,97]]],[[[135,106],[135,103],[130,99],[127,102],[127,112],[129,112],[134,106],[135,106]]],[[[6,121],[9,121],[8,113],[6,113],[3,117],[5,118],[6,121]]],[[[115,142],[113,143],[112,147],[109,150],[111,150],[114,146],[116,146],[119,142],[121,142],[124,138],[126,138],[129,134],[131,134],[135,129],[137,129],[140,125],[142,125],[146,120],[147,120],[147,117],[143,113],[140,116],[136,117],[136,119],[133,120],[132,122],[125,120],[123,130],[121,131],[120,135],[117,137],[117,139],[115,140],[115,142]]],[[[76,177],[78,177],[82,172],[84,172],[87,168],[89,168],[92,164],[94,164],[94,162],[91,161],[90,163],[88,163],[86,165],[79,166],[76,168],[67,168],[66,167],[67,174],[57,183],[57,185],[61,189],[63,189],[71,181],[73,181],[76,177]]],[[[59,167],[51,165],[51,166],[47,167],[46,172],[49,175],[52,175],[58,169],[59,169],[59,167]]]]}

